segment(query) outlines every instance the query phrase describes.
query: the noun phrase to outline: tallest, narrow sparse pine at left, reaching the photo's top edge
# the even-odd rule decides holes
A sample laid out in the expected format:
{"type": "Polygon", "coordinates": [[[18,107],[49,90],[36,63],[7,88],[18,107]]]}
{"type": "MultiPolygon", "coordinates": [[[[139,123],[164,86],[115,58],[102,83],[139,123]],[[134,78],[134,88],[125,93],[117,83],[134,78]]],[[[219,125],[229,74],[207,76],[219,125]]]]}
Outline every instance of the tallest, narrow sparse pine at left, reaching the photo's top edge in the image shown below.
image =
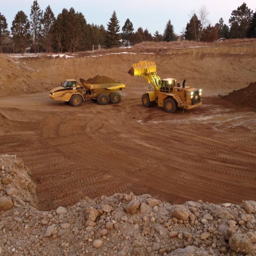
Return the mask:
{"type": "Polygon", "coordinates": [[[41,8],[36,0],[33,2],[33,5],[31,5],[31,12],[30,12],[31,34],[33,35],[33,40],[34,40],[35,54],[36,54],[36,47],[38,49],[38,41],[39,41],[38,39],[41,36],[40,33],[42,30],[42,16],[43,16],[43,11],[41,11],[41,8]]]}

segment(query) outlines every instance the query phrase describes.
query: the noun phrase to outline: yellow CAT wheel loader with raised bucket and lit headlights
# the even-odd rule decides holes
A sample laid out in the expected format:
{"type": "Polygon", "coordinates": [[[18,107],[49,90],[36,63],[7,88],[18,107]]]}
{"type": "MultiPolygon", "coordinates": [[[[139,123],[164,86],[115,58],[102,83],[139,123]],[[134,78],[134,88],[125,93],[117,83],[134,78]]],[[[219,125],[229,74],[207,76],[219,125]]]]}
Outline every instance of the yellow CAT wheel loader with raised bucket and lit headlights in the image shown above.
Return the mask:
{"type": "Polygon", "coordinates": [[[128,71],[131,76],[141,76],[148,81],[149,91],[142,95],[142,105],[151,107],[157,105],[163,107],[168,113],[173,113],[180,108],[183,112],[185,109],[196,108],[202,105],[202,89],[196,89],[186,86],[183,81],[182,87],[173,78],[161,79],[156,75],[156,63],[154,61],[139,61],[132,64],[128,71]],[[151,88],[153,91],[151,92],[151,88]]]}

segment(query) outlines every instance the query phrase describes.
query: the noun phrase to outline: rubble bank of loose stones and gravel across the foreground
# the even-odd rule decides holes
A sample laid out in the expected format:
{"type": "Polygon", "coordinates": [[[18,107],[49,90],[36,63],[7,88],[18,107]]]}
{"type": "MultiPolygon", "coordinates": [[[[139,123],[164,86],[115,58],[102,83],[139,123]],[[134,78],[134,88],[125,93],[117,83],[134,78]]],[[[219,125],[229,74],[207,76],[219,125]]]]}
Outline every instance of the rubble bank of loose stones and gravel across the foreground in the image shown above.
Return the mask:
{"type": "Polygon", "coordinates": [[[22,161],[2,155],[0,165],[0,254],[256,255],[254,201],[174,205],[130,193],[42,212],[33,206],[35,185],[22,161]],[[31,202],[20,198],[24,191],[31,202]]]}

